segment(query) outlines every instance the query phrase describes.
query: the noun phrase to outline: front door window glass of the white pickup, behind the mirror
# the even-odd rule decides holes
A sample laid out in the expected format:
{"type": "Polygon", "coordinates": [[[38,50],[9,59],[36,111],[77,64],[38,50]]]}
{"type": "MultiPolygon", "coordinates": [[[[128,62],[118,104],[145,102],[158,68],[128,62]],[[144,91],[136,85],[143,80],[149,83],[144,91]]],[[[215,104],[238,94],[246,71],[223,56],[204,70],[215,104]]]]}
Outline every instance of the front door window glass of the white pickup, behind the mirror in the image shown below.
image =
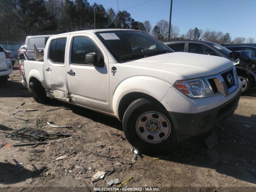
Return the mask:
{"type": "Polygon", "coordinates": [[[85,55],[88,53],[96,53],[100,55],[100,50],[94,42],[88,37],[74,37],[72,44],[72,63],[88,64],[85,62],[85,55]]]}

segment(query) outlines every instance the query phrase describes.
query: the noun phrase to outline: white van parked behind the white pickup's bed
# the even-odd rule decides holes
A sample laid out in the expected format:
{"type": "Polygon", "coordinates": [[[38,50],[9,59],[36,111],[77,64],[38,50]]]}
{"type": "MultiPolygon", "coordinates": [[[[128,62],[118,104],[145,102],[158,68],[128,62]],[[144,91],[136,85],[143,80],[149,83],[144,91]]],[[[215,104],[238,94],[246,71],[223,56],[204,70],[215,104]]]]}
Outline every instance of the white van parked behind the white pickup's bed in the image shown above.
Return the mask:
{"type": "Polygon", "coordinates": [[[26,37],[26,54],[28,58],[34,58],[34,44],[39,51],[45,48],[48,38],[52,35],[38,35],[38,36],[27,36],[26,37]]]}

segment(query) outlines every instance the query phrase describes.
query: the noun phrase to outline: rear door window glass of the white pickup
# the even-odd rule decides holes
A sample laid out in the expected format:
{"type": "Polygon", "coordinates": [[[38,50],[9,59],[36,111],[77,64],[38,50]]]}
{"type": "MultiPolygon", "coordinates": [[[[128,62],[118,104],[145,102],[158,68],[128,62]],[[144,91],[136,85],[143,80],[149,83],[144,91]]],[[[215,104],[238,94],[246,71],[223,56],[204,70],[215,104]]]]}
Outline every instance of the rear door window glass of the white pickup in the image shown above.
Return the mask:
{"type": "Polygon", "coordinates": [[[54,39],[51,41],[49,50],[49,59],[54,63],[63,63],[65,61],[66,38],[54,39]]]}

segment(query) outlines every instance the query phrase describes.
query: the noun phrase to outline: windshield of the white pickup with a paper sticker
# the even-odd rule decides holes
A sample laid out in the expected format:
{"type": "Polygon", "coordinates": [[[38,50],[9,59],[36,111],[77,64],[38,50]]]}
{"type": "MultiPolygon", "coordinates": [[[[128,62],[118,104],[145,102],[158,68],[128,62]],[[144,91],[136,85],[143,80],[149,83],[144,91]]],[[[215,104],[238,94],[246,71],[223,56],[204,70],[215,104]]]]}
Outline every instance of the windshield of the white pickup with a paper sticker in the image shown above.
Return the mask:
{"type": "Polygon", "coordinates": [[[95,34],[120,63],[173,52],[155,38],[140,31],[119,30],[95,34]]]}

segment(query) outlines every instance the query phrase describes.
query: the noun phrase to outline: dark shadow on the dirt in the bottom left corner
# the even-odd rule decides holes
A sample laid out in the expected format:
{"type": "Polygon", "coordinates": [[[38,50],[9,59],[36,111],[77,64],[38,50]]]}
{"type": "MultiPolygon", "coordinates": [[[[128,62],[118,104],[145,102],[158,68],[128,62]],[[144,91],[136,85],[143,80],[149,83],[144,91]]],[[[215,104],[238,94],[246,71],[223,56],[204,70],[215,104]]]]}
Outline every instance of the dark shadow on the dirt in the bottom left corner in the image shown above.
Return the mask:
{"type": "Polygon", "coordinates": [[[28,170],[20,165],[15,159],[13,160],[15,164],[10,162],[0,162],[0,184],[15,184],[23,182],[29,178],[38,177],[46,167],[40,168],[38,170],[34,167],[34,171],[28,170]]]}

